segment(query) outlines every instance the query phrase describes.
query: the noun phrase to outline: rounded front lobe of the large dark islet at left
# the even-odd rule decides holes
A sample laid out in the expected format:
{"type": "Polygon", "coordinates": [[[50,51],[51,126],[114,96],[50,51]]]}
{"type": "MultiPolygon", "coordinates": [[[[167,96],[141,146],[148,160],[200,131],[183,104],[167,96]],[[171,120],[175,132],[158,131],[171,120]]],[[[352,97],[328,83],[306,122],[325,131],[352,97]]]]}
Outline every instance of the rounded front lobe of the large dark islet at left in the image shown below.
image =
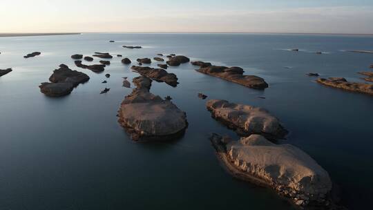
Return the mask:
{"type": "Polygon", "coordinates": [[[74,85],[70,82],[50,83],[43,82],[39,86],[41,93],[50,97],[61,97],[73,91],[74,85]]]}

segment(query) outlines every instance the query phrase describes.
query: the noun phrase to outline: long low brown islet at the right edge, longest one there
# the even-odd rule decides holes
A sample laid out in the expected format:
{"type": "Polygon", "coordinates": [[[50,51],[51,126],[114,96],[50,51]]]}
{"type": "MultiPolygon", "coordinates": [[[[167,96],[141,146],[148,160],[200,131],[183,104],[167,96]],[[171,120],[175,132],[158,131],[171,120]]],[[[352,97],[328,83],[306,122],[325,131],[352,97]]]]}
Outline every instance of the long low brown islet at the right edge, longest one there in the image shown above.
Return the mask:
{"type": "Polygon", "coordinates": [[[347,80],[343,77],[329,77],[329,79],[319,78],[316,80],[316,82],[333,88],[340,88],[356,93],[373,95],[373,84],[347,82],[347,80]]]}

